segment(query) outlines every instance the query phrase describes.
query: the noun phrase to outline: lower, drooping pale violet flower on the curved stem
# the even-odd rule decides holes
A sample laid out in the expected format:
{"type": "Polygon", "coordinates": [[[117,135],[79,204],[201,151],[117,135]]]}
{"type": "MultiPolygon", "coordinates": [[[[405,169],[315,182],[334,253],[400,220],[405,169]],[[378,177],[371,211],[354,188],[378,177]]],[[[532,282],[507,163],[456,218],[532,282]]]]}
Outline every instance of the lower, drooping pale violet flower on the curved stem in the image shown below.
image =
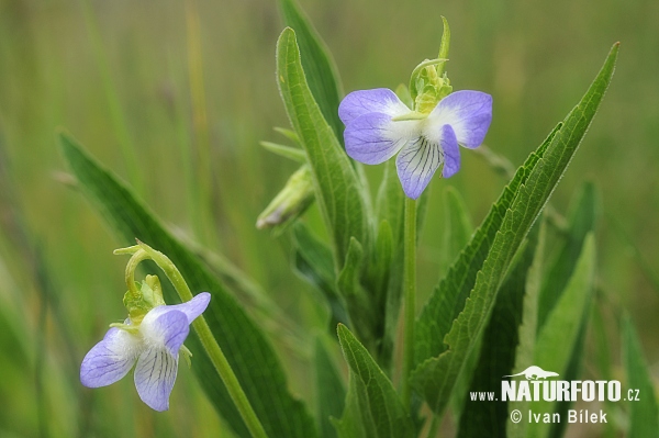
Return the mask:
{"type": "Polygon", "coordinates": [[[190,324],[205,311],[211,294],[202,292],[187,303],[152,308],[137,326],[112,327],[85,357],[80,382],[88,388],[107,386],[122,379],[135,362],[135,388],[155,411],[169,408],[169,394],[178,371],[179,349],[190,324]]]}

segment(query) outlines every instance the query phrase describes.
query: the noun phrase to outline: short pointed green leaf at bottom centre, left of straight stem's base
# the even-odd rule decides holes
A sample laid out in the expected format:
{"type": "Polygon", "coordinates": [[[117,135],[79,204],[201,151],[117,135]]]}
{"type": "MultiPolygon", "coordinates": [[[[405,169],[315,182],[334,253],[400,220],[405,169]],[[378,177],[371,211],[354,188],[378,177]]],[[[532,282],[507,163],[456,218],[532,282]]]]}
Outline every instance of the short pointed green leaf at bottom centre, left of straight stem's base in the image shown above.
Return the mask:
{"type": "MultiPolygon", "coordinates": [[[[384,375],[367,349],[344,325],[338,326],[338,340],[350,368],[348,400],[353,400],[364,430],[339,425],[342,437],[405,438],[414,437],[414,425],[406,414],[391,381],[384,375]],[[359,434],[359,435],[356,435],[359,434]]],[[[354,412],[346,405],[344,416],[355,423],[354,412]]],[[[342,419],[342,424],[344,420],[342,419]]],[[[354,427],[354,426],[353,426],[354,427]]]]}

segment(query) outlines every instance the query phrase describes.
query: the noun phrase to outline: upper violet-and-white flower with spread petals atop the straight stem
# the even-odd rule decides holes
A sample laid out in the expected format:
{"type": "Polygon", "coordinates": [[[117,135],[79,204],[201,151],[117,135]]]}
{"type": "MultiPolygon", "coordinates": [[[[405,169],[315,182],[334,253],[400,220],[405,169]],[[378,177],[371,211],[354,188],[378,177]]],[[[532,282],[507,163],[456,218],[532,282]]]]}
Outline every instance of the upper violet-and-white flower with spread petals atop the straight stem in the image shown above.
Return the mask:
{"type": "Polygon", "coordinates": [[[492,97],[456,91],[426,115],[412,112],[386,88],[353,91],[340,102],[346,151],[357,161],[379,165],[398,154],[403,191],[417,199],[435,171],[448,178],[460,168],[458,145],[480,146],[492,121],[492,97]]]}

